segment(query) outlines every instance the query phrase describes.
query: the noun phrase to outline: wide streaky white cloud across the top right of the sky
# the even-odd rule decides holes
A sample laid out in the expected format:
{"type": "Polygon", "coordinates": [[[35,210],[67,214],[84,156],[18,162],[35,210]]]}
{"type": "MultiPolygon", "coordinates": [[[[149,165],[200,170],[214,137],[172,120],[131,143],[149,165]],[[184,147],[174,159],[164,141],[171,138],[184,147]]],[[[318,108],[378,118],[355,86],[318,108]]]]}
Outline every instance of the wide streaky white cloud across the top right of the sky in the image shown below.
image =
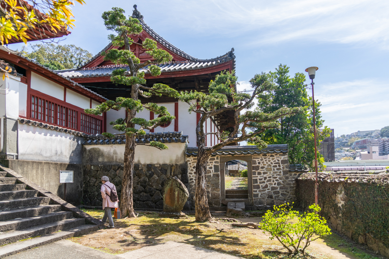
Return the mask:
{"type": "MultiPolygon", "coordinates": [[[[248,44],[290,40],[336,43],[378,43],[389,48],[389,1],[174,1],[173,9],[192,10],[180,23],[204,35],[233,33],[248,44]],[[254,40],[252,40],[254,39],[254,40]]],[[[178,11],[178,10],[177,10],[178,11]]]]}

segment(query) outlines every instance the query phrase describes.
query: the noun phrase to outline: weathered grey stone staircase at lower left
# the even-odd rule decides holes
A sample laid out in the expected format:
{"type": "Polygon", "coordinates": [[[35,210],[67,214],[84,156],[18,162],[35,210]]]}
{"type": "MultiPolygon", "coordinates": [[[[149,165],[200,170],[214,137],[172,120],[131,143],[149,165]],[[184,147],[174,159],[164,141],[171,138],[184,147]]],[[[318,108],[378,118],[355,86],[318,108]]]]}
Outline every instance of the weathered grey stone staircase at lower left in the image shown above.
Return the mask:
{"type": "Polygon", "coordinates": [[[7,170],[0,165],[0,258],[83,235],[102,225],[51,192],[32,188],[33,183],[26,183],[24,177],[12,177],[15,174],[2,169],[7,170]],[[86,224],[86,219],[92,224],[86,224]]]}

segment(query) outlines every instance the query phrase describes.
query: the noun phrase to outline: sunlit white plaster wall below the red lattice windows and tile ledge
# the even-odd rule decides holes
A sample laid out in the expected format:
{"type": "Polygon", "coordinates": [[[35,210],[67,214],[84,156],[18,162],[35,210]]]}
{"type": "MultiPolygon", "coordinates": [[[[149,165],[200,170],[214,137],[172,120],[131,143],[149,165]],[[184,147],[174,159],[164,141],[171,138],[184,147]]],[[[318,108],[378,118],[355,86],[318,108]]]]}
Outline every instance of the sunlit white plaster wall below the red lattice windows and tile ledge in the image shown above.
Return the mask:
{"type": "Polygon", "coordinates": [[[81,163],[82,137],[18,123],[18,158],[60,163],[81,163]]]}

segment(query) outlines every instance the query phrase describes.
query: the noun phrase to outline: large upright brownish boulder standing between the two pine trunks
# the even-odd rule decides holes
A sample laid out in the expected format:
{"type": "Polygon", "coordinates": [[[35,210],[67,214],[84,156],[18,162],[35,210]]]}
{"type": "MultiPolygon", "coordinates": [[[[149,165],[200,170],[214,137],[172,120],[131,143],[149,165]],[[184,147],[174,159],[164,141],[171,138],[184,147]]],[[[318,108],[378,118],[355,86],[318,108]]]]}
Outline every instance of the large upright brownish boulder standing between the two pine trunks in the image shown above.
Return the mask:
{"type": "Polygon", "coordinates": [[[189,198],[189,191],[177,178],[169,178],[163,186],[163,211],[180,212],[189,198]]]}

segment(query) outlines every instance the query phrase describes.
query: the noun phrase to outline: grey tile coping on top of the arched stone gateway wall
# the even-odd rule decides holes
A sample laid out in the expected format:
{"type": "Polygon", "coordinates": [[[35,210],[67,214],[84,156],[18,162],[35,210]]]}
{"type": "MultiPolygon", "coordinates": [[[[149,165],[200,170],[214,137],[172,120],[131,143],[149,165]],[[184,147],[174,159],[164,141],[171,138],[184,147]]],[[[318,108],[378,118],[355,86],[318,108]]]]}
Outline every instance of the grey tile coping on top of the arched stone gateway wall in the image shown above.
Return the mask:
{"type": "MultiPolygon", "coordinates": [[[[231,155],[254,155],[254,154],[267,154],[267,153],[283,153],[288,151],[287,144],[281,145],[268,145],[267,148],[259,150],[256,146],[225,146],[216,152],[212,153],[212,156],[231,156],[231,155]]],[[[198,147],[188,147],[186,149],[186,156],[197,156],[198,147]]]]}

